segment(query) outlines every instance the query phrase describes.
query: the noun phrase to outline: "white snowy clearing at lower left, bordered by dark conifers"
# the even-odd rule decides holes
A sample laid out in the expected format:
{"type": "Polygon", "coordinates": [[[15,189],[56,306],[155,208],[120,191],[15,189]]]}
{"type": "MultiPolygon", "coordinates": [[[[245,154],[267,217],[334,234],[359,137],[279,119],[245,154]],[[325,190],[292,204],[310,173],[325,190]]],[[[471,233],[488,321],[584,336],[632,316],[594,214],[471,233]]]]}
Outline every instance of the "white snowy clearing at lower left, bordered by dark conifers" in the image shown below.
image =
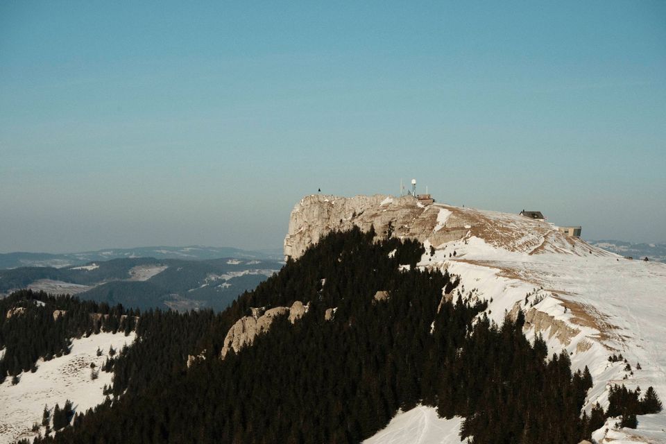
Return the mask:
{"type": "MultiPolygon", "coordinates": [[[[90,364],[99,369],[108,358],[109,348],[119,351],[131,345],[135,333],[100,333],[87,338],[73,339],[69,355],[51,361],[37,361],[35,373],[22,373],[19,383],[12,386],[11,378],[0,384],[0,444],[9,444],[20,438],[30,438],[33,423],[41,425],[44,404],[53,411],[56,403],[63,407],[71,400],[74,410],[86,411],[104,401],[103,387],[111,384],[112,374],[99,371],[91,378],[90,364]],[[103,351],[97,356],[97,348],[103,351]]],[[[44,427],[41,427],[42,434],[44,427]]]]}

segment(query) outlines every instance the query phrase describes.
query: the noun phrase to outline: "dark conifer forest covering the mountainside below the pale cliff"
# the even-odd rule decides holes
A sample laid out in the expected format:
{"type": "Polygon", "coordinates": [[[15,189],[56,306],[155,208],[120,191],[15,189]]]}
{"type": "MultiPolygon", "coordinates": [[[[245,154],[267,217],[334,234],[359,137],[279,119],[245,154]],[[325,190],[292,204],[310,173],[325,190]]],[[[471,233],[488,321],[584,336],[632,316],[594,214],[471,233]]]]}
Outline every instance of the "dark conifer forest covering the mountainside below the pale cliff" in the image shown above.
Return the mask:
{"type": "MultiPolygon", "coordinates": [[[[463,416],[461,439],[474,443],[578,443],[603,425],[600,407],[581,416],[587,368],[572,372],[565,352],[548,356],[543,339],[527,341],[522,312],[495,325],[481,300],[443,300],[458,282],[417,269],[418,242],[374,238],[333,232],[219,314],[131,313],[139,339],[105,364],[114,372],[106,402],[35,442],[356,443],[418,403],[463,416]],[[377,291],[388,299],[375,300],[377,291]],[[220,359],[225,334],[251,307],[295,300],[309,304],[300,320],[282,316],[220,359]],[[187,368],[188,355],[202,359],[187,368]]],[[[118,326],[106,328],[127,327],[121,307],[88,309],[117,314],[118,326]]],[[[44,350],[64,350],[62,341],[44,350]]],[[[16,368],[34,362],[17,359],[16,368]]],[[[611,407],[628,420],[661,408],[654,390],[643,400],[614,390],[611,407]]]]}

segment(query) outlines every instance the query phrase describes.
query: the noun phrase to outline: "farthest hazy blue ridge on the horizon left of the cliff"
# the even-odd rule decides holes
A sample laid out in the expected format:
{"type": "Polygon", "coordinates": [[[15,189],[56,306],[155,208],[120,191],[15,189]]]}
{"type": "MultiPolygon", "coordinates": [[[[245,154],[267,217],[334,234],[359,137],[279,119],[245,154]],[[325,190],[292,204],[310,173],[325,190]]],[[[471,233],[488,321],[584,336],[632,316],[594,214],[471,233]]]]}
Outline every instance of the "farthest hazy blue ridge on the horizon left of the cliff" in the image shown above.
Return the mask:
{"type": "Polygon", "coordinates": [[[108,261],[119,258],[154,257],[155,259],[219,259],[235,257],[239,259],[282,260],[282,248],[265,250],[241,250],[233,247],[209,246],[152,246],[136,248],[107,248],[105,250],[83,251],[79,253],[0,253],[0,270],[21,266],[66,266],[84,265],[94,261],[108,261]]]}

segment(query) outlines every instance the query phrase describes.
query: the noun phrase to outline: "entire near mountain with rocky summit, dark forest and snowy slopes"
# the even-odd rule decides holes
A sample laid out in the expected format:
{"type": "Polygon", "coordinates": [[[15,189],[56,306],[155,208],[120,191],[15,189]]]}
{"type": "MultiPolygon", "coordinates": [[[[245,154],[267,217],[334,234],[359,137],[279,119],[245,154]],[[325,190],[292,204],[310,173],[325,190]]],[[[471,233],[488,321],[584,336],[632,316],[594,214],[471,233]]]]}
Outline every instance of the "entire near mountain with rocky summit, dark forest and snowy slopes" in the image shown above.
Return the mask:
{"type": "Polygon", "coordinates": [[[0,300],[0,443],[666,442],[666,264],[429,196],[307,196],[284,253],[218,313],[0,300]]]}

